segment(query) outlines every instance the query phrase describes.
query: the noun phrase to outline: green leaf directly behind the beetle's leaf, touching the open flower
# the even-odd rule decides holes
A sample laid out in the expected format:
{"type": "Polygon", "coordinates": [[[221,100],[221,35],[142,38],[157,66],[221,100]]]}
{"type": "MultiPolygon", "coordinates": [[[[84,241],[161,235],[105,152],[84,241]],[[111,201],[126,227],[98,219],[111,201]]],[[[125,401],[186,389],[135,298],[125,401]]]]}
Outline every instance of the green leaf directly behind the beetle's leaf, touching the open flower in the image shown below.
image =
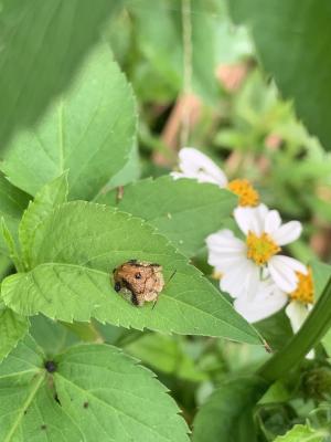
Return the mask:
{"type": "Polygon", "coordinates": [[[117,200],[116,191],[98,198],[98,202],[117,204],[147,220],[189,256],[196,254],[210,233],[222,228],[222,220],[237,203],[233,193],[217,186],[171,177],[129,185],[117,200]]]}

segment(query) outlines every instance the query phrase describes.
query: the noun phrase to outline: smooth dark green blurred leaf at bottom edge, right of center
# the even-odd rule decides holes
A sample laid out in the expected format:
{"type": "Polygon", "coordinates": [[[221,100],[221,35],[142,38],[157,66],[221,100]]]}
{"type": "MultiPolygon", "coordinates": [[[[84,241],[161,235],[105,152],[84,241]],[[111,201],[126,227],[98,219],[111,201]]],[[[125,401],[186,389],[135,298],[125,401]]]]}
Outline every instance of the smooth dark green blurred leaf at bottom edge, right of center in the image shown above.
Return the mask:
{"type": "Polygon", "coordinates": [[[193,442],[255,442],[254,407],[267,388],[258,378],[224,381],[199,410],[193,442]]]}

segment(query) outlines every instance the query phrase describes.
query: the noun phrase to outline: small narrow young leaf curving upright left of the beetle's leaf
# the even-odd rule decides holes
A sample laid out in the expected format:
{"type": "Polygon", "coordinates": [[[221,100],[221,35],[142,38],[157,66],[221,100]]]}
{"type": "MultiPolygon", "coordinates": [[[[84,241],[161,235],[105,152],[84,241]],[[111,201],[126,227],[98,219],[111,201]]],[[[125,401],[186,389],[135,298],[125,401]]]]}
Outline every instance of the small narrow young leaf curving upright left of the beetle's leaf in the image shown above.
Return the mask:
{"type": "Polygon", "coordinates": [[[19,236],[26,267],[30,266],[30,250],[39,224],[51,213],[54,207],[66,202],[67,193],[67,172],[64,172],[45,185],[25,210],[20,222],[19,236]]]}

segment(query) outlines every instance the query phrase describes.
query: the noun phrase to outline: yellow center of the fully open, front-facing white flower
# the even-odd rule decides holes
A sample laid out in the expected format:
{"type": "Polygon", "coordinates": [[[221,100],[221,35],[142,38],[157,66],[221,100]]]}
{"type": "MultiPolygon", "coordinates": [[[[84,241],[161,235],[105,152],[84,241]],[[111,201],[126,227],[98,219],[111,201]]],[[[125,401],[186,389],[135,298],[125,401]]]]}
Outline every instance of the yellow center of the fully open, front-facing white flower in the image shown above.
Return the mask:
{"type": "Polygon", "coordinates": [[[257,236],[253,232],[248,232],[246,243],[247,257],[253,260],[257,265],[266,264],[271,256],[276,255],[276,253],[281,250],[268,233],[265,232],[260,236],[257,236]]]}

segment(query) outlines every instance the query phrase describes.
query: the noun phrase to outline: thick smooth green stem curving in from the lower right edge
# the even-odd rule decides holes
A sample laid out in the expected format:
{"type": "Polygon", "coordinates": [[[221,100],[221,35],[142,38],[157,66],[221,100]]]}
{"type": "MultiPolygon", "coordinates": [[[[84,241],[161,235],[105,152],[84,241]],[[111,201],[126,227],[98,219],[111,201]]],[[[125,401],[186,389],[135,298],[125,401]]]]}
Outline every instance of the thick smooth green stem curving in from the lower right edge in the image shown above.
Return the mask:
{"type": "Polygon", "coordinates": [[[268,381],[282,378],[319,344],[330,327],[331,278],[300,330],[258,370],[258,375],[268,381]]]}

